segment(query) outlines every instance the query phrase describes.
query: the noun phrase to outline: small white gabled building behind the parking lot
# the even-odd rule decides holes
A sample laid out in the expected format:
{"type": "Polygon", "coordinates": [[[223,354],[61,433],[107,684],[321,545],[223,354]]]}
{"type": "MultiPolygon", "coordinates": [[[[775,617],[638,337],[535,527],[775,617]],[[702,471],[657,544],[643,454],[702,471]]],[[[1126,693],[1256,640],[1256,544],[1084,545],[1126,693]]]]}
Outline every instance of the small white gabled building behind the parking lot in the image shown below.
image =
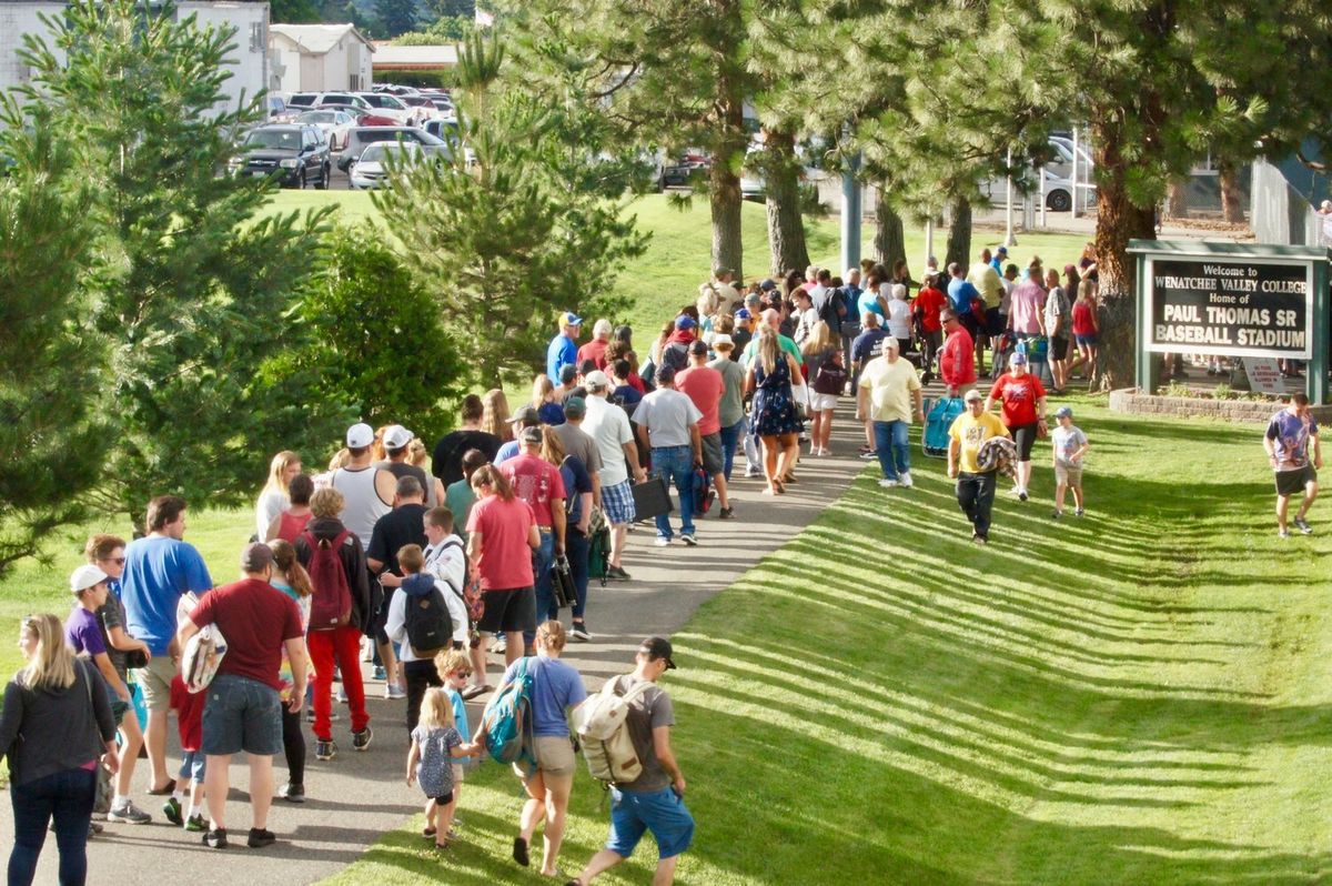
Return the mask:
{"type": "Polygon", "coordinates": [[[369,89],[374,47],[350,24],[274,24],[269,53],[274,92],[369,89]]]}

